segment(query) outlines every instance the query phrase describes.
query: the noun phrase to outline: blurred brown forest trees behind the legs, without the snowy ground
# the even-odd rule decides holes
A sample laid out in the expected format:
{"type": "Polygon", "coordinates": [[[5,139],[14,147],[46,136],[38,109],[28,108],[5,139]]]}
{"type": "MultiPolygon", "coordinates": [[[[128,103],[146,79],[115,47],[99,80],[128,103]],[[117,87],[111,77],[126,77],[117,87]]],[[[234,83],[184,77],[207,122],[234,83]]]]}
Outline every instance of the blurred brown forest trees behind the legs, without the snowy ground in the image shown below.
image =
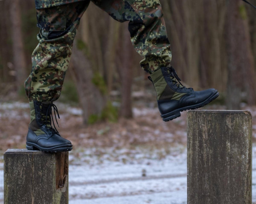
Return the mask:
{"type": "MultiPolygon", "coordinates": [[[[255,105],[256,10],[242,0],[160,2],[182,81],[218,89],[227,109],[255,105]]],[[[23,83],[39,32],[34,0],[0,1],[0,18],[0,101],[27,101],[23,83]]],[[[132,93],[154,91],[127,26],[92,3],[81,19],[60,101],[80,104],[85,124],[132,117],[132,93]]]]}

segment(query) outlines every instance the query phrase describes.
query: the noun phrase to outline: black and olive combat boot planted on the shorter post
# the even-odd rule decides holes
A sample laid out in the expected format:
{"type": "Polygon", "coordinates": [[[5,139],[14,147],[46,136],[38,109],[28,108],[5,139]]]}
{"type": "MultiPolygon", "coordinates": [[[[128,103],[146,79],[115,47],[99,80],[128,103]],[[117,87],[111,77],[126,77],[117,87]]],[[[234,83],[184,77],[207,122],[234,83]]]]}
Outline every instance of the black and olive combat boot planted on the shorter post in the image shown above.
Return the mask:
{"type": "Polygon", "coordinates": [[[26,148],[30,150],[39,149],[44,152],[70,151],[72,149],[71,142],[60,136],[52,121],[52,107],[54,115],[57,113],[59,117],[57,107],[52,102],[38,101],[29,102],[29,106],[30,123],[26,148]],[[52,128],[52,122],[54,128],[52,128]]]}

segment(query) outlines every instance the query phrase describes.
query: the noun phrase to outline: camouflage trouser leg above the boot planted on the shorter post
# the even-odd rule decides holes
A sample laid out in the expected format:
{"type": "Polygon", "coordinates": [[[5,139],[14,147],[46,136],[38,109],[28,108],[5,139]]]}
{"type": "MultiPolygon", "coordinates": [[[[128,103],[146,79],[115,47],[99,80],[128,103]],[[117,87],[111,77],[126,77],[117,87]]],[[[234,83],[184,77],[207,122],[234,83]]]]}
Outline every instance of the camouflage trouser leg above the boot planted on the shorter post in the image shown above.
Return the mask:
{"type": "Polygon", "coordinates": [[[80,18],[89,3],[86,0],[37,10],[39,43],[25,81],[30,101],[55,101],[60,97],[80,18]]]}

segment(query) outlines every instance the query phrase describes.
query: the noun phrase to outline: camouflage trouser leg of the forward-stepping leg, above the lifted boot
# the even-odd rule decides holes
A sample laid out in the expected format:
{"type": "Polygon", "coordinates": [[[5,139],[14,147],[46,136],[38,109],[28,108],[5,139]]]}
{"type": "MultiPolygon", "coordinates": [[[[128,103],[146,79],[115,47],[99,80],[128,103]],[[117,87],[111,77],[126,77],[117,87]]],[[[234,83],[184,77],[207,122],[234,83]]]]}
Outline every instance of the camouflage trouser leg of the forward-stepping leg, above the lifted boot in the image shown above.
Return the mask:
{"type": "Polygon", "coordinates": [[[128,29],[135,50],[144,58],[140,65],[153,73],[169,66],[172,54],[163,12],[158,0],[92,0],[119,22],[129,21],[128,29]]]}

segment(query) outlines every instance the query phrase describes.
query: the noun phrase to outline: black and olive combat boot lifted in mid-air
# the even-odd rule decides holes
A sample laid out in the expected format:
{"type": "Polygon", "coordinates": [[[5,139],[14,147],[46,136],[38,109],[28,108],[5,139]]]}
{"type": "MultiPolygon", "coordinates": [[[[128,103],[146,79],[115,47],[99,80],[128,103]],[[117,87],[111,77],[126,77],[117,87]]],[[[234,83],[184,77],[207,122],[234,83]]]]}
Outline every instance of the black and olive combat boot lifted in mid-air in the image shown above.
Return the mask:
{"type": "Polygon", "coordinates": [[[158,108],[164,121],[180,117],[181,111],[205,106],[219,96],[216,89],[194,91],[186,88],[172,67],[162,67],[148,78],[156,89],[158,108]]]}

